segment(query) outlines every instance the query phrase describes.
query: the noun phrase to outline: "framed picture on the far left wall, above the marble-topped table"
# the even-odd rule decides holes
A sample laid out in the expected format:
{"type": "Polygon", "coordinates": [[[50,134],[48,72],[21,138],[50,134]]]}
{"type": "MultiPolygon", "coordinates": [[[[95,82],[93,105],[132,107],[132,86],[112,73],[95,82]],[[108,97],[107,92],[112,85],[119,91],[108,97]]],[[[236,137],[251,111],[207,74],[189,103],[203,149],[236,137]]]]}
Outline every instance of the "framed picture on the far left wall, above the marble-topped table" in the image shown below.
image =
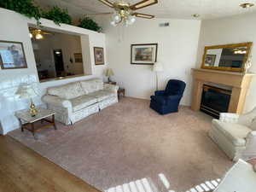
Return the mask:
{"type": "Polygon", "coordinates": [[[0,41],[0,66],[2,69],[27,68],[21,42],[0,41]]]}

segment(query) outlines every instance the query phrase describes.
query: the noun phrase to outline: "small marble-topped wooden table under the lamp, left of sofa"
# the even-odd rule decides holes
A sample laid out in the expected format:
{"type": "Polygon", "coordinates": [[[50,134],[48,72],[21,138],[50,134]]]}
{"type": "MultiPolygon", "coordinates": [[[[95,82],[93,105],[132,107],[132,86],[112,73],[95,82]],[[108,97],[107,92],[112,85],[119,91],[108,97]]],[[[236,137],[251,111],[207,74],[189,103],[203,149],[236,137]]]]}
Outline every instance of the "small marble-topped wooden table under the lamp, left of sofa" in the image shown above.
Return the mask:
{"type": "Polygon", "coordinates": [[[55,112],[49,109],[45,108],[37,108],[38,109],[38,114],[34,117],[31,116],[31,114],[28,112],[28,110],[21,110],[15,113],[15,116],[19,119],[20,121],[20,128],[21,131],[23,132],[24,129],[27,131],[31,131],[33,134],[33,137],[35,137],[35,132],[44,130],[49,127],[54,127],[55,130],[57,129],[55,125],[55,112]],[[50,119],[47,119],[51,117],[50,119]],[[42,125],[40,127],[35,127],[35,123],[41,121],[41,124],[47,122],[47,125],[42,125]]]}

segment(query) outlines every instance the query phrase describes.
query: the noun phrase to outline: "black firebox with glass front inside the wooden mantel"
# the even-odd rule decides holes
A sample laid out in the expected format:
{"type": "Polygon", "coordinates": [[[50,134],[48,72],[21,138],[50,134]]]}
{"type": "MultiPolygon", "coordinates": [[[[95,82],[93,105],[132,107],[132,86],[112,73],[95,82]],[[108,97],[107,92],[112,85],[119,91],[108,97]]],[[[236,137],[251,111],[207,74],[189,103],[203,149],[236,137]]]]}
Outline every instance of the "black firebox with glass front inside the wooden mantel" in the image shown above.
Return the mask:
{"type": "Polygon", "coordinates": [[[231,90],[224,90],[207,84],[204,84],[202,89],[200,106],[202,112],[218,118],[219,113],[229,111],[231,90]]]}

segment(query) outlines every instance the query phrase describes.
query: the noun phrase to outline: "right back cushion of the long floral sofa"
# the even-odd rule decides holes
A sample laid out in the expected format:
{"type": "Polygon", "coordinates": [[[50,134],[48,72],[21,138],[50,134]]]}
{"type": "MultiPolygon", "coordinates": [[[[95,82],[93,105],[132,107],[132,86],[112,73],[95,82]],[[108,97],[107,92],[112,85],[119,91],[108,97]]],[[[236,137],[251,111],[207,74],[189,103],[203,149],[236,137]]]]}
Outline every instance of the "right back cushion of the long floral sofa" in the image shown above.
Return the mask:
{"type": "Polygon", "coordinates": [[[86,81],[80,81],[85,94],[95,92],[97,90],[103,90],[102,79],[90,79],[86,81]]]}

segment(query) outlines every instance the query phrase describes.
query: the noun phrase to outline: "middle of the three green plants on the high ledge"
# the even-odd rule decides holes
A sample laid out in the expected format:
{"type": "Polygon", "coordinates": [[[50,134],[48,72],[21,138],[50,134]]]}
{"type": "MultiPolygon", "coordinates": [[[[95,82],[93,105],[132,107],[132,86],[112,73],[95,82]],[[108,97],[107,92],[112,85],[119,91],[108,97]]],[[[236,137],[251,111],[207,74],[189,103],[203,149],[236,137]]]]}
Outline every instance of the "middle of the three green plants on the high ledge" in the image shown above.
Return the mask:
{"type": "Polygon", "coordinates": [[[57,6],[54,6],[49,11],[43,11],[42,17],[48,20],[53,20],[56,25],[60,26],[61,23],[72,24],[71,16],[68,15],[67,9],[61,9],[57,6]]]}

